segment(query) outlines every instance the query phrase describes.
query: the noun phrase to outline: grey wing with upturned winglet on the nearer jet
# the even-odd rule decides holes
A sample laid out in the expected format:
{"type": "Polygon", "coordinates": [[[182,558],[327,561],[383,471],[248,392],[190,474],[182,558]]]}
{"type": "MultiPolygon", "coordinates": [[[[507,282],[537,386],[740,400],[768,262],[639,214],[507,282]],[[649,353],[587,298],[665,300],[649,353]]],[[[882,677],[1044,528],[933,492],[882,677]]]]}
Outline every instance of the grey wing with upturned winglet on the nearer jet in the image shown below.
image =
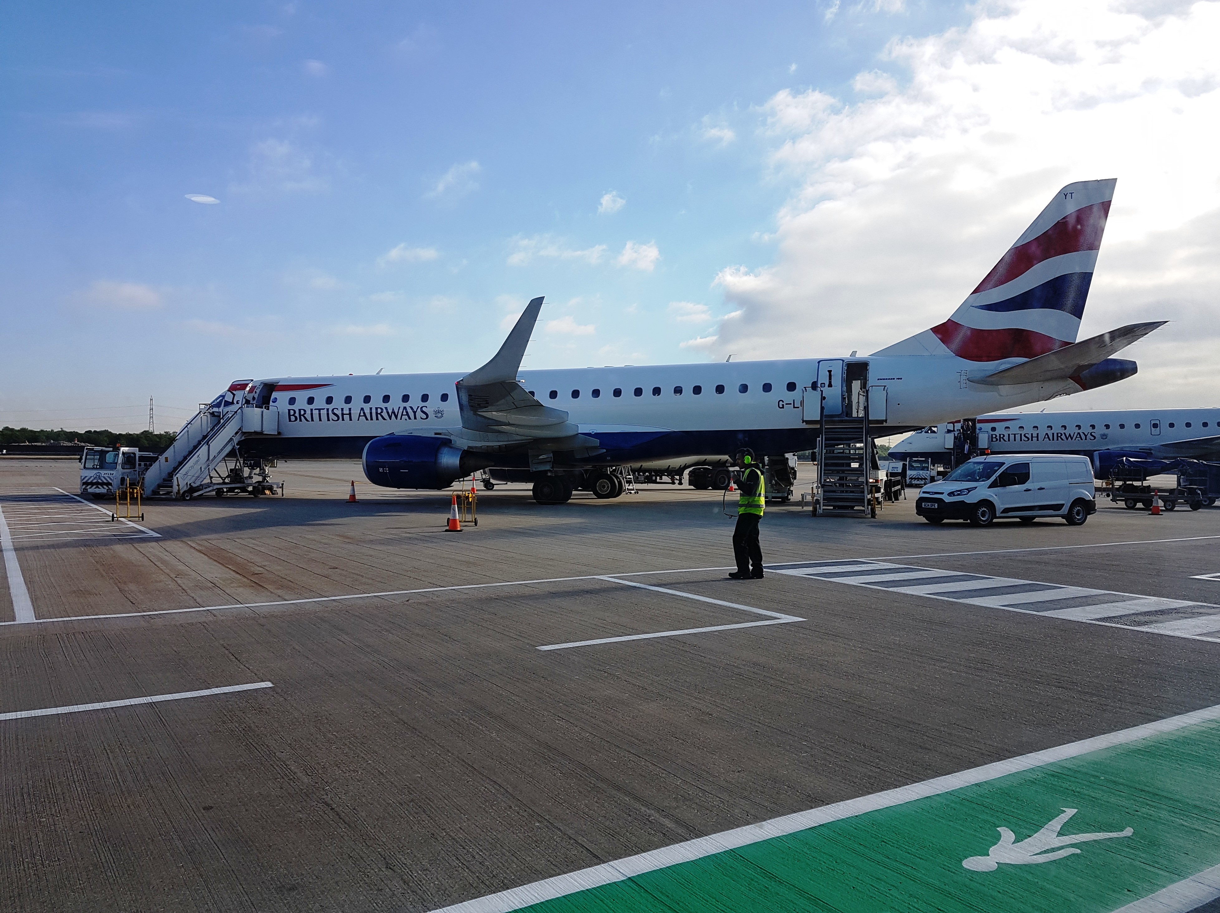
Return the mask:
{"type": "MultiPolygon", "coordinates": [[[[458,381],[461,424],[467,431],[538,441],[577,435],[566,411],[543,405],[517,381],[542,301],[529,301],[490,361],[458,381]]],[[[587,443],[597,446],[592,438],[587,443]]]]}

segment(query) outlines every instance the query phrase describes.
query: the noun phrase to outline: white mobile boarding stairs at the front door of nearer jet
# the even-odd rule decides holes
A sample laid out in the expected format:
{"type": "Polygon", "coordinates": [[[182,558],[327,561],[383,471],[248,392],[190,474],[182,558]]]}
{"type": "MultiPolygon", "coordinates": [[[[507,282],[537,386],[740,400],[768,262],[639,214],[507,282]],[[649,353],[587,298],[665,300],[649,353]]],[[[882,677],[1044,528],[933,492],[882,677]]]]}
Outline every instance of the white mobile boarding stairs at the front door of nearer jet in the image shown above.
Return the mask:
{"type": "MultiPolygon", "coordinates": [[[[264,460],[242,458],[240,444],[250,435],[278,435],[279,410],[249,402],[214,400],[200,406],[182,426],[170,448],[144,474],[144,497],[156,494],[189,499],[201,494],[254,497],[272,494],[276,486],[264,460]]],[[[281,493],[283,488],[281,487],[281,493]]]]}

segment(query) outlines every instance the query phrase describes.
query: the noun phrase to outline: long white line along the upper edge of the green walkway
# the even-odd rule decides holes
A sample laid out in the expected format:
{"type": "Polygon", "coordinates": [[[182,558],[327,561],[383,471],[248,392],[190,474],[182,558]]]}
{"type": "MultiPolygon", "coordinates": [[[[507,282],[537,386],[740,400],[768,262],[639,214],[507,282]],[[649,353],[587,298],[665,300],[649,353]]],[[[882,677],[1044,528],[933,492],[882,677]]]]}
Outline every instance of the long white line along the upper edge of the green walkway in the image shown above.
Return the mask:
{"type": "MultiPolygon", "coordinates": [[[[1107,735],[1094,736],[1093,738],[1085,738],[1080,742],[1071,742],[1055,748],[1047,748],[1041,752],[1022,754],[1016,758],[1009,758],[1008,760],[998,760],[993,764],[985,764],[983,767],[963,770],[958,774],[938,776],[932,780],[924,780],[922,782],[911,784],[909,786],[899,786],[895,790],[875,792],[871,796],[861,796],[860,798],[848,799],[845,802],[836,802],[831,806],[811,808],[808,812],[797,812],[795,814],[784,815],[782,818],[772,818],[770,821],[749,824],[744,828],[712,834],[706,837],[698,837],[684,843],[676,843],[675,846],[653,850],[647,853],[640,853],[639,856],[631,856],[626,859],[594,865],[588,869],[581,869],[580,872],[572,872],[566,875],[558,875],[543,881],[534,881],[531,885],[512,887],[508,891],[500,891],[499,893],[488,895],[486,897],[477,897],[472,901],[466,901],[465,903],[455,903],[453,906],[433,911],[433,913],[510,913],[511,911],[528,907],[532,903],[540,903],[543,901],[555,900],[556,897],[565,897],[570,893],[576,893],[577,891],[583,891],[589,887],[600,887],[601,885],[610,885],[616,881],[626,881],[636,875],[656,872],[658,869],[664,869],[677,863],[703,859],[708,856],[715,856],[716,853],[722,853],[727,850],[737,850],[743,846],[770,840],[772,837],[782,837],[788,834],[808,830],[810,828],[817,828],[822,824],[830,824],[831,821],[855,818],[856,815],[861,815],[866,812],[893,808],[894,806],[902,806],[908,802],[914,802],[915,799],[927,798],[928,796],[939,796],[946,792],[960,790],[964,786],[974,786],[976,784],[998,780],[999,778],[1008,776],[1009,774],[1017,774],[1022,770],[1032,770],[1059,760],[1078,758],[1082,754],[1091,754],[1103,748],[1130,745],[1131,742],[1138,742],[1143,738],[1148,738],[1149,736],[1174,732],[1186,726],[1193,726],[1199,723],[1210,723],[1218,719],[1220,719],[1220,706],[1208,707],[1202,710],[1194,710],[1193,713],[1183,713],[1180,716],[1170,716],[1169,719],[1158,720],[1155,723],[1146,723],[1142,726],[1133,726],[1131,729],[1119,730],[1118,732],[1109,732],[1107,735]]],[[[1211,870],[1209,869],[1208,872],[1211,870]]],[[[1198,875],[1196,878],[1198,878],[1198,875]]],[[[1155,897],[1157,895],[1152,896],[1155,897]]],[[[1147,907],[1143,911],[1139,911],[1139,913],[1152,913],[1152,911],[1157,909],[1157,907],[1147,907]]],[[[1166,909],[1190,908],[1170,907],[1166,909]]]]}

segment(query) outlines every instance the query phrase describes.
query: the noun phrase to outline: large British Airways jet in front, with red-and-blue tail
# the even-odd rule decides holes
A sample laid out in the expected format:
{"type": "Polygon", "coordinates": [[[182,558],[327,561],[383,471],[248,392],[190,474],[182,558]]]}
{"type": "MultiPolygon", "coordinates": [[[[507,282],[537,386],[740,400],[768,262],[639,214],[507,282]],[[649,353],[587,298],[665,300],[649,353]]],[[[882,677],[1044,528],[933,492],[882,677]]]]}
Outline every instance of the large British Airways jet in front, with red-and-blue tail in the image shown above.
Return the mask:
{"type": "Polygon", "coordinates": [[[553,503],[571,497],[573,478],[625,464],[811,449],[821,399],[844,382],[869,389],[875,437],[1114,383],[1136,364],[1111,355],[1164,323],[1076,342],[1115,183],[1064,187],[948,320],[865,358],[521,371],[536,298],[468,374],[251,382],[244,402],[278,410],[278,433],[246,437],[242,453],[359,457],[371,482],[392,488],[527,470],[534,497],[553,503]]]}

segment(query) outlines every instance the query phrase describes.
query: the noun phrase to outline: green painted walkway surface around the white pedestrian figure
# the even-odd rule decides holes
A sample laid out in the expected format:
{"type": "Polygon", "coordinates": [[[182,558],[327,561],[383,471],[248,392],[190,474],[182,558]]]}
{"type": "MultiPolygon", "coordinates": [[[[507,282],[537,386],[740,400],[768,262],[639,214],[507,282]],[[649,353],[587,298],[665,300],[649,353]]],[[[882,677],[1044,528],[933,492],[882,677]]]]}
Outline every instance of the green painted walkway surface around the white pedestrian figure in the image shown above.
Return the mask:
{"type": "Polygon", "coordinates": [[[1220,723],[1197,724],[516,908],[1114,911],[1220,863],[1218,758],[1220,723]],[[1065,808],[1078,812],[1063,836],[1133,832],[1050,862],[963,867],[997,828],[1020,843],[1065,808]]]}

